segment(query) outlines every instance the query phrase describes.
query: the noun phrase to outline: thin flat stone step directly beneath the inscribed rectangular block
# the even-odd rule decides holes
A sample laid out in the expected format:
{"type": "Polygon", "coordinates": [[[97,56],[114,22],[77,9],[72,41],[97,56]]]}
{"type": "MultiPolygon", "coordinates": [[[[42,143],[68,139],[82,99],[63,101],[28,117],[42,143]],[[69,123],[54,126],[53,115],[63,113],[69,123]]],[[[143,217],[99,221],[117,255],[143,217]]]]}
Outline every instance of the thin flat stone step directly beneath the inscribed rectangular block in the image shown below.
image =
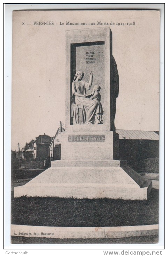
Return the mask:
{"type": "Polygon", "coordinates": [[[125,160],[55,160],[51,167],[122,167],[126,166],[125,160]]]}

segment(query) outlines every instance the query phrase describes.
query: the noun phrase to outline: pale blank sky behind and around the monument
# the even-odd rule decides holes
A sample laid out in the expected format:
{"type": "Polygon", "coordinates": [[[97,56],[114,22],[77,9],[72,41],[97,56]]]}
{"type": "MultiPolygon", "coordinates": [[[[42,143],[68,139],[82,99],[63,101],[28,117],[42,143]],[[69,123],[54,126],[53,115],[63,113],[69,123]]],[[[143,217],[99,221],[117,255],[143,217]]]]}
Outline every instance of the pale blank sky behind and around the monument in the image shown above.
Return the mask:
{"type": "Polygon", "coordinates": [[[58,122],[65,123],[65,32],[83,29],[66,21],[111,28],[119,73],[116,129],[159,130],[159,12],[24,11],[13,18],[12,149],[44,133],[55,135],[58,122]]]}

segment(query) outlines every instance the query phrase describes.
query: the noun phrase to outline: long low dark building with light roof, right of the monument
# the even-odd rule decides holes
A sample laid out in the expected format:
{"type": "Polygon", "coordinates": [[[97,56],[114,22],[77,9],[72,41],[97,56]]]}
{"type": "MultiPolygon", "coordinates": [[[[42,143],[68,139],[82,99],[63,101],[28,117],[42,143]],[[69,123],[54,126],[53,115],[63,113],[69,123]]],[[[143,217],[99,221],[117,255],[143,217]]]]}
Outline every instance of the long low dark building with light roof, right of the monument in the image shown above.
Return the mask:
{"type": "MultiPolygon", "coordinates": [[[[116,130],[119,134],[119,159],[126,160],[133,170],[146,170],[147,160],[159,171],[159,132],[116,130]]],[[[149,169],[149,167],[148,167],[149,169]]]]}

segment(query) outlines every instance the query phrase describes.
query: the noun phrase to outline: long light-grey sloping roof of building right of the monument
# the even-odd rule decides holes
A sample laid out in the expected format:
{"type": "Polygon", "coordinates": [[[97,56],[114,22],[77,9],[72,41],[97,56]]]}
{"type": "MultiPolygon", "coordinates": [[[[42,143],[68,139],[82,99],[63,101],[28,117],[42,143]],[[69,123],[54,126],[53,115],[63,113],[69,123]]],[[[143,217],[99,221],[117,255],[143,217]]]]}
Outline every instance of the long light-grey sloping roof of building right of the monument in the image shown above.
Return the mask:
{"type": "Polygon", "coordinates": [[[116,130],[119,134],[119,139],[127,140],[159,140],[159,134],[152,131],[138,131],[138,130],[116,130]]]}

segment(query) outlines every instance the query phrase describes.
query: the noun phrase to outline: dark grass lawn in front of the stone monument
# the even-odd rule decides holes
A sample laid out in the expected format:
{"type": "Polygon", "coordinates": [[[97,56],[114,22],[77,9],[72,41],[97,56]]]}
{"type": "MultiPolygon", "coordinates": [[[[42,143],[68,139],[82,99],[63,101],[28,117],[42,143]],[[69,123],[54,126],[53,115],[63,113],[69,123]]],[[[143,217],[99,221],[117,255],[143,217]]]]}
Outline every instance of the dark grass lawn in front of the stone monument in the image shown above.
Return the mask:
{"type": "Polygon", "coordinates": [[[159,191],[148,201],[57,197],[11,198],[12,224],[110,227],[158,224],[159,191]]]}

